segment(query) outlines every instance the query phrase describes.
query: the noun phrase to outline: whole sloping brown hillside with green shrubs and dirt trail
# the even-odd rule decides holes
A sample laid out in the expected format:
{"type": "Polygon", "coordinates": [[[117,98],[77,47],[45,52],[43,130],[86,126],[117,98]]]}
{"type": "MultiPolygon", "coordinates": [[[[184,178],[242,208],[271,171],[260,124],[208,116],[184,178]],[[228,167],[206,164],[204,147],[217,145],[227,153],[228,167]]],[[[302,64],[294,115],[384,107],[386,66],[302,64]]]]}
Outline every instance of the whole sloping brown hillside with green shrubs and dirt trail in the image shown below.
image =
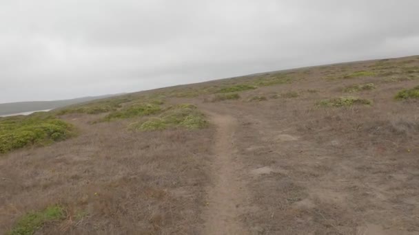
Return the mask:
{"type": "Polygon", "coordinates": [[[0,234],[419,234],[419,56],[0,118],[0,234]]]}

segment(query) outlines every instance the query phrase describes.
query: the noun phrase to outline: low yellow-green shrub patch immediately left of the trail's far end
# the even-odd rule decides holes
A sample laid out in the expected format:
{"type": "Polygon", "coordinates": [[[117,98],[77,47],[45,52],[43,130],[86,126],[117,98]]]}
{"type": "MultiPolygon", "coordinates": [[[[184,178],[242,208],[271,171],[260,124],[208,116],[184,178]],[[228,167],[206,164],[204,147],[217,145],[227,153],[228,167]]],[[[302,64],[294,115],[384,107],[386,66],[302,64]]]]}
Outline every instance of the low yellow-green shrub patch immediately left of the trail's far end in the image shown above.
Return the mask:
{"type": "Polygon", "coordinates": [[[159,131],[167,128],[205,128],[208,122],[205,115],[193,104],[178,104],[170,107],[159,117],[151,117],[145,122],[136,122],[130,128],[139,131],[159,131]]]}

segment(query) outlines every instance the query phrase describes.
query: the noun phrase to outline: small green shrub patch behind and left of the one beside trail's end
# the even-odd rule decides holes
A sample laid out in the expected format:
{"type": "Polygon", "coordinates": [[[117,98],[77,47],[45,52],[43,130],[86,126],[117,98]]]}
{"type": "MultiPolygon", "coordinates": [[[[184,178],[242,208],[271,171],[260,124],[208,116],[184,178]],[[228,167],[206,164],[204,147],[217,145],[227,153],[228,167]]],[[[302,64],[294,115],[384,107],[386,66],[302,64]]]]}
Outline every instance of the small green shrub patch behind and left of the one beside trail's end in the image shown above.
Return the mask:
{"type": "Polygon", "coordinates": [[[111,121],[116,119],[126,119],[132,117],[143,117],[146,115],[152,115],[161,112],[161,107],[159,104],[152,104],[152,103],[140,103],[140,104],[133,104],[126,109],[122,109],[119,111],[114,111],[108,115],[106,115],[103,120],[111,121]]]}

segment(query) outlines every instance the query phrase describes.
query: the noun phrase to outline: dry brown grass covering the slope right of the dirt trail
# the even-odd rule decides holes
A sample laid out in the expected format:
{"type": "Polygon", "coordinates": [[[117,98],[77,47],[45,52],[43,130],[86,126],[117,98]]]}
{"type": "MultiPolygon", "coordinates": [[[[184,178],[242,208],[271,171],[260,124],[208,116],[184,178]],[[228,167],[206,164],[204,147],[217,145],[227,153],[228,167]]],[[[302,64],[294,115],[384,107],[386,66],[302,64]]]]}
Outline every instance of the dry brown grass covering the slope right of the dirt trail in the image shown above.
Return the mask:
{"type": "MultiPolygon", "coordinates": [[[[309,97],[229,107],[246,110],[237,148],[248,172],[268,169],[249,184],[251,205],[259,206],[242,216],[249,230],[357,234],[378,225],[389,234],[419,231],[418,109],[381,94],[374,107],[352,109],[311,109],[309,97]]],[[[333,90],[323,95],[336,96],[333,90]]]]}

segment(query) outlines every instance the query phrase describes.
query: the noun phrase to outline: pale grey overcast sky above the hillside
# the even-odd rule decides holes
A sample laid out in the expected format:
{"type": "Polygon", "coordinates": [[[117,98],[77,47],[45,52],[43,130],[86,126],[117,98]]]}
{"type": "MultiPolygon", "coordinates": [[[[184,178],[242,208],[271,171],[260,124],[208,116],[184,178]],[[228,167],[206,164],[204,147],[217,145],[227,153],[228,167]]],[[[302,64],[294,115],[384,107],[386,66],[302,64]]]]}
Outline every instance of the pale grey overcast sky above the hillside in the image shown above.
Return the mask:
{"type": "Polygon", "coordinates": [[[419,54],[418,0],[0,0],[0,103],[419,54]]]}

